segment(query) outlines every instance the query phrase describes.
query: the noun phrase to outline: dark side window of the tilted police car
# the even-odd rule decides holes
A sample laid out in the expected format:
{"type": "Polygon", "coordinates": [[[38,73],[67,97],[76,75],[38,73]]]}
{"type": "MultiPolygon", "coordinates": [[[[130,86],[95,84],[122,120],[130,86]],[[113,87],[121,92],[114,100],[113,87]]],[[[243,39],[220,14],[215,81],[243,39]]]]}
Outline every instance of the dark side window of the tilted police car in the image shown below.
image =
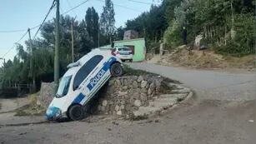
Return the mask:
{"type": "Polygon", "coordinates": [[[98,65],[99,62],[103,60],[103,56],[101,55],[96,55],[92,57],[88,62],[86,62],[83,67],[79,69],[77,72],[76,76],[74,77],[73,80],[73,91],[75,91],[80,84],[83,82],[83,80],[88,77],[90,72],[93,71],[93,69],[98,65]]]}

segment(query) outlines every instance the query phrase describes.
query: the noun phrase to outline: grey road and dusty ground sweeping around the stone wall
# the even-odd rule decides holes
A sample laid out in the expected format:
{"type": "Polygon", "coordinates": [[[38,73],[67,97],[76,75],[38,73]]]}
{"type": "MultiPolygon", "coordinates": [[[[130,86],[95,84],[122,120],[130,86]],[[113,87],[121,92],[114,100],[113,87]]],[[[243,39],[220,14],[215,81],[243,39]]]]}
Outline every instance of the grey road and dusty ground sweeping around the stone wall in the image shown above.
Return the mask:
{"type": "MultiPolygon", "coordinates": [[[[143,121],[93,116],[82,122],[40,123],[39,117],[17,117],[21,125],[4,126],[0,143],[96,144],[254,144],[255,74],[227,73],[131,63],[131,67],[174,78],[196,95],[166,113],[143,121]],[[22,121],[23,120],[23,121],[22,121]],[[28,121],[27,120],[27,121],[28,121]]],[[[7,123],[7,122],[6,122],[7,123]]],[[[1,124],[3,126],[1,126],[1,124]]]]}

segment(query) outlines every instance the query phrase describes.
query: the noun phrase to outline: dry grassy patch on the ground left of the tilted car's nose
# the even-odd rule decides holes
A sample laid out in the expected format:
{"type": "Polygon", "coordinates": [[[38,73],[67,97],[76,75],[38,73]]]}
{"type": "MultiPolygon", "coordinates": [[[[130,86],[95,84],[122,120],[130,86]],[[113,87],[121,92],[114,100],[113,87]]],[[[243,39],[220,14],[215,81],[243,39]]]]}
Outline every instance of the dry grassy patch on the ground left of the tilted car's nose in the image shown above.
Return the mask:
{"type": "Polygon", "coordinates": [[[37,104],[38,93],[28,96],[29,104],[18,108],[15,116],[42,116],[46,109],[37,104]]]}

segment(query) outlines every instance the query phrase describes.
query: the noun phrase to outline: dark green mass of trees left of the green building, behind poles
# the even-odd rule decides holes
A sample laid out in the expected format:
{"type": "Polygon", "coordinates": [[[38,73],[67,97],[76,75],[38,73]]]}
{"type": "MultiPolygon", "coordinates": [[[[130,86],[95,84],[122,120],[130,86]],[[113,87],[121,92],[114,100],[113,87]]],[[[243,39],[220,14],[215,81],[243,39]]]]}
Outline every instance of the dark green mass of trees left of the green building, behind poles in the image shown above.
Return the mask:
{"type": "MultiPolygon", "coordinates": [[[[80,22],[68,15],[60,17],[61,76],[67,70],[68,63],[72,62],[71,25],[73,25],[74,35],[74,59],[78,60],[92,48],[98,47],[98,44],[103,46],[117,39],[120,30],[114,27],[114,15],[113,2],[106,0],[100,17],[93,7],[88,8],[84,19],[80,22]]],[[[27,40],[25,46],[17,44],[18,54],[13,61],[8,60],[4,66],[4,87],[19,83],[33,83],[34,79],[39,89],[41,82],[53,82],[55,19],[45,22],[40,32],[40,38],[27,40]]]]}

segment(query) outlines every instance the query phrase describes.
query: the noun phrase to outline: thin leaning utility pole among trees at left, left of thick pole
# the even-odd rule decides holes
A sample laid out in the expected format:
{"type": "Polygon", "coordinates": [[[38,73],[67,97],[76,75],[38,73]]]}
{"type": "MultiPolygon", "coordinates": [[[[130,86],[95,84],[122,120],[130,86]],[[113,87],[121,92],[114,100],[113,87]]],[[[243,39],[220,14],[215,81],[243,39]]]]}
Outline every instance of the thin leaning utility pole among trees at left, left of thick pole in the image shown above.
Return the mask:
{"type": "Polygon", "coordinates": [[[30,50],[30,68],[31,68],[31,74],[32,74],[32,79],[33,79],[33,92],[34,92],[35,88],[36,88],[36,75],[35,75],[35,72],[34,72],[33,43],[32,43],[32,40],[31,40],[30,28],[28,28],[28,36],[29,36],[29,46],[31,48],[31,50],[30,50]]]}

